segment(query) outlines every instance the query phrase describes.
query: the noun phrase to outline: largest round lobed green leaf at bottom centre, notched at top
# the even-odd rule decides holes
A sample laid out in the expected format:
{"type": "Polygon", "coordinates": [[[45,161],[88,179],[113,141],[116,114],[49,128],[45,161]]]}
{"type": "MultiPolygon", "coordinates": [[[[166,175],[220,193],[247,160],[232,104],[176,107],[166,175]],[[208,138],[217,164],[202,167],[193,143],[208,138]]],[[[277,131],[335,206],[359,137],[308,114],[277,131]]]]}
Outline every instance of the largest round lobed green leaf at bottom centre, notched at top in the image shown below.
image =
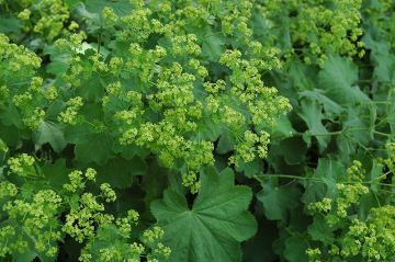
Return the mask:
{"type": "Polygon", "coordinates": [[[163,242],[171,248],[171,261],[240,261],[239,242],[257,230],[247,210],[251,197],[249,187],[234,185],[229,169],[202,174],[202,189],[192,208],[183,195],[165,191],[163,200],[151,204],[151,212],[165,229],[163,242]]]}

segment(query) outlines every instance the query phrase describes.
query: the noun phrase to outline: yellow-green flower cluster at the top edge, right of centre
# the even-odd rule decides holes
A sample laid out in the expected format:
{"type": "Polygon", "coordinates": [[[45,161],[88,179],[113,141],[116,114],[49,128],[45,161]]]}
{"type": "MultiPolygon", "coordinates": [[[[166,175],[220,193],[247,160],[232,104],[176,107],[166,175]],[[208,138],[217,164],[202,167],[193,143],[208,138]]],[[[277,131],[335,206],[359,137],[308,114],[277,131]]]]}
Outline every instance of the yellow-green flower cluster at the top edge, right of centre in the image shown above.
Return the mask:
{"type": "MultiPolygon", "coordinates": [[[[312,2],[308,0],[275,0],[261,4],[262,16],[272,26],[283,26],[281,18],[290,18],[289,37],[291,54],[301,54],[305,62],[323,64],[329,54],[346,56],[364,55],[362,42],[362,0],[334,0],[312,2]]],[[[278,42],[280,37],[278,35],[278,42]]],[[[269,43],[273,39],[269,38],[269,43]]],[[[275,42],[275,41],[274,41],[275,42]]],[[[286,47],[286,46],[285,46],[286,47]]],[[[290,56],[290,55],[287,55],[290,56]]]]}

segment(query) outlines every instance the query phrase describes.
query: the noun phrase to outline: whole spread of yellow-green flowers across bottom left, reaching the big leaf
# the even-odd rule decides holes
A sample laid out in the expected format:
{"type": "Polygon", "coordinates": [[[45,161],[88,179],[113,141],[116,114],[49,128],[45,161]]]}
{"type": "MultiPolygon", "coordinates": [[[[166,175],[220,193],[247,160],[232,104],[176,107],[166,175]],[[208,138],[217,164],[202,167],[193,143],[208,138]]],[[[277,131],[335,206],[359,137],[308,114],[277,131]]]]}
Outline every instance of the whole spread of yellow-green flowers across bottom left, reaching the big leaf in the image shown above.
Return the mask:
{"type": "MultiPolygon", "coordinates": [[[[10,173],[26,180],[43,180],[42,185],[48,184],[47,175],[54,175],[26,176],[25,169],[34,164],[34,158],[25,153],[10,158],[8,162],[10,173]]],[[[92,168],[86,172],[71,171],[69,183],[63,184],[58,193],[52,189],[38,190],[29,183],[23,183],[19,190],[14,183],[1,181],[0,258],[34,250],[41,258],[56,259],[58,241],[65,238],[65,233],[84,243],[80,261],[139,262],[140,257],[146,257],[148,261],[169,258],[170,249],[160,242],[163,230],[159,227],[142,232],[142,241],[134,237],[133,229],[139,220],[136,210],[129,209],[121,217],[105,213],[102,202],[115,202],[116,193],[108,183],[98,186],[100,195],[88,192],[95,185],[97,175],[92,168]],[[91,184],[88,185],[88,182],[91,184]],[[59,219],[63,214],[65,221],[59,219]]]]}

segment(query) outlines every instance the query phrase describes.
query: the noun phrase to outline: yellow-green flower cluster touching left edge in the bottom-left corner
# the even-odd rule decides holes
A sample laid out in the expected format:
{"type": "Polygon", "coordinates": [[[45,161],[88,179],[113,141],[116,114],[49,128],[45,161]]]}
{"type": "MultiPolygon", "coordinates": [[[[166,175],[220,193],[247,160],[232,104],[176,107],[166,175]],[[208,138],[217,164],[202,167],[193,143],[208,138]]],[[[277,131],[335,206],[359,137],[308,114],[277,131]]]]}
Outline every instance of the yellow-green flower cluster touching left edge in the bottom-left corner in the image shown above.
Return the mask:
{"type": "MultiPolygon", "coordinates": [[[[9,190],[12,190],[8,186],[9,190]]],[[[16,192],[9,192],[15,197],[16,192]]],[[[57,255],[57,241],[61,239],[61,230],[56,215],[61,198],[52,190],[38,191],[32,200],[13,198],[3,205],[10,224],[0,228],[0,257],[13,252],[26,252],[27,239],[35,239],[36,252],[45,253],[49,258],[57,255]],[[9,244],[10,243],[10,244],[9,244]]]]}

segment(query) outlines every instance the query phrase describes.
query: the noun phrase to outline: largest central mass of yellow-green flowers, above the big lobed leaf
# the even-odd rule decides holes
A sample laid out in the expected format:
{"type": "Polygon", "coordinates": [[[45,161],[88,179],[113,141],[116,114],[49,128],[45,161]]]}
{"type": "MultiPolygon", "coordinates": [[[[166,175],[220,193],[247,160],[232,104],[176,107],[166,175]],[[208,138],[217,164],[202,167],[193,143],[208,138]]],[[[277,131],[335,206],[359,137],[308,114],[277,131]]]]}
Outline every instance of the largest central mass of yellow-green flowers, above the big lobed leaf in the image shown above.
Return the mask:
{"type": "MultiPolygon", "coordinates": [[[[100,132],[87,129],[105,133],[116,152],[144,148],[167,168],[191,171],[183,175],[183,184],[193,192],[200,187],[200,169],[214,163],[214,141],[225,133],[234,140],[229,162],[266,158],[268,130],[291,106],[261,79],[264,70],[281,64],[279,50],[267,48],[252,34],[252,2],[132,5],[127,14],[110,5],[101,11],[101,35],[114,35],[106,52],[100,47],[93,52],[82,31],[55,42],[56,52],[67,54],[67,70],[60,77],[72,90],[57,121],[70,132],[95,123],[100,132]],[[221,23],[215,25],[215,19],[221,23]],[[206,24],[206,30],[189,32],[196,23],[206,24]],[[235,43],[226,49],[226,37],[248,48],[241,52],[235,43]],[[95,117],[80,121],[81,107],[99,101],[95,117]],[[240,141],[245,134],[252,140],[240,141]]],[[[95,23],[84,21],[88,26],[95,23]]]]}

